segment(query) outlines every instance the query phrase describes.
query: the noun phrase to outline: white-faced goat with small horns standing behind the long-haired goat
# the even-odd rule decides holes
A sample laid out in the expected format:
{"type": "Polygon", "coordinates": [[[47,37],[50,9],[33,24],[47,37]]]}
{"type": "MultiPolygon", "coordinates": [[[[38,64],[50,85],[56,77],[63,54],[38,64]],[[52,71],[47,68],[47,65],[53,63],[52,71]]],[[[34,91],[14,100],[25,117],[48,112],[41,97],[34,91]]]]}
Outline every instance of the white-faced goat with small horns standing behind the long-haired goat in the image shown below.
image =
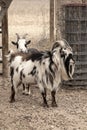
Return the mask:
{"type": "MultiPolygon", "coordinates": [[[[31,43],[31,40],[28,41],[26,40],[27,34],[24,34],[23,37],[20,37],[20,35],[16,33],[16,36],[17,36],[17,41],[16,42],[12,41],[11,43],[17,47],[18,52],[29,53],[29,54],[32,53],[36,54],[38,52],[38,50],[35,48],[28,48],[28,45],[31,43]]],[[[28,86],[25,88],[25,85],[23,84],[23,94],[29,95],[30,93],[31,92],[28,86]]]]}

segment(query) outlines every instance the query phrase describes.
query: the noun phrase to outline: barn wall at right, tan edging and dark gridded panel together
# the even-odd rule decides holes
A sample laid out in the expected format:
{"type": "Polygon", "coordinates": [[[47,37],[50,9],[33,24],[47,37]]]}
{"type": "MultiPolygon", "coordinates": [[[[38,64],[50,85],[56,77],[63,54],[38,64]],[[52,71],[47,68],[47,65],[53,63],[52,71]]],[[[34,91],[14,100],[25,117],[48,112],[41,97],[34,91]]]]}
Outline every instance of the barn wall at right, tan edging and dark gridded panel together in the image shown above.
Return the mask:
{"type": "Polygon", "coordinates": [[[66,86],[87,87],[87,4],[81,3],[82,1],[78,1],[77,4],[74,0],[65,2],[61,0],[59,3],[57,0],[55,4],[58,5],[56,6],[56,39],[65,38],[69,42],[75,59],[73,80],[65,82],[66,86]]]}

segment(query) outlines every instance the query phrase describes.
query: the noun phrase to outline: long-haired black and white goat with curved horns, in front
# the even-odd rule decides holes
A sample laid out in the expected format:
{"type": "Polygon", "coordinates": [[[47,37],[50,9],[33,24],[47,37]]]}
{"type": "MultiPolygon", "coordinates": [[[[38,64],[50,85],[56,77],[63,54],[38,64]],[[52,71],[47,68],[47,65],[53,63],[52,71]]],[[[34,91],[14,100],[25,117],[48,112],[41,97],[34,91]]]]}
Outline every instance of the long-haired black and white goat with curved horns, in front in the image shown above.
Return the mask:
{"type": "Polygon", "coordinates": [[[29,86],[36,82],[43,97],[43,104],[47,107],[46,89],[51,90],[52,106],[57,106],[56,91],[62,80],[72,79],[75,67],[72,49],[66,41],[57,41],[51,51],[43,53],[31,55],[13,53],[10,55],[10,62],[12,83],[10,101],[15,101],[20,83],[29,86]]]}

